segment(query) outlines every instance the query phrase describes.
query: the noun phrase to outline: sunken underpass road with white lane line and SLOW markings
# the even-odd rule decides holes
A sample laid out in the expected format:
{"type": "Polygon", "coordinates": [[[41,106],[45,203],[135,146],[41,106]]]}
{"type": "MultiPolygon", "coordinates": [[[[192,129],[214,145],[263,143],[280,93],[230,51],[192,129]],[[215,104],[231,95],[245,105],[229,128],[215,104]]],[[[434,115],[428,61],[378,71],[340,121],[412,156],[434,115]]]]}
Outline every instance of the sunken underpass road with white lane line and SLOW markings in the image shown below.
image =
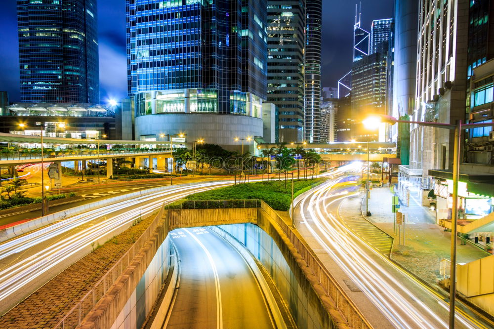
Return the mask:
{"type": "Polygon", "coordinates": [[[261,288],[240,253],[207,228],[170,232],[181,259],[179,289],[163,328],[274,328],[261,288]]]}

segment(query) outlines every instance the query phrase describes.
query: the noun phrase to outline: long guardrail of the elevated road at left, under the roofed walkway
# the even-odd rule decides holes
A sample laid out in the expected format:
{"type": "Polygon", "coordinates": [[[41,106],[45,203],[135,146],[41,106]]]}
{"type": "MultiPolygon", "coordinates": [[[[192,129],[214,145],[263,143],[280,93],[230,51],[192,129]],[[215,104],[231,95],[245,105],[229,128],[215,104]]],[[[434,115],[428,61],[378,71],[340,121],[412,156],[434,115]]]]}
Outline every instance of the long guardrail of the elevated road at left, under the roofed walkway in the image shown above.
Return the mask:
{"type": "MultiPolygon", "coordinates": [[[[152,150],[108,150],[104,152],[99,152],[100,157],[104,156],[116,156],[116,155],[133,155],[133,154],[142,154],[142,153],[164,153],[164,152],[170,152],[169,149],[152,149],[152,150]]],[[[78,150],[78,151],[45,151],[44,153],[44,159],[53,159],[53,158],[74,158],[74,157],[93,157],[93,156],[98,156],[98,151],[94,150],[78,150]]],[[[41,153],[35,153],[35,154],[23,154],[19,152],[17,156],[15,155],[2,155],[0,153],[0,161],[16,161],[16,160],[41,160],[41,153]]]]}

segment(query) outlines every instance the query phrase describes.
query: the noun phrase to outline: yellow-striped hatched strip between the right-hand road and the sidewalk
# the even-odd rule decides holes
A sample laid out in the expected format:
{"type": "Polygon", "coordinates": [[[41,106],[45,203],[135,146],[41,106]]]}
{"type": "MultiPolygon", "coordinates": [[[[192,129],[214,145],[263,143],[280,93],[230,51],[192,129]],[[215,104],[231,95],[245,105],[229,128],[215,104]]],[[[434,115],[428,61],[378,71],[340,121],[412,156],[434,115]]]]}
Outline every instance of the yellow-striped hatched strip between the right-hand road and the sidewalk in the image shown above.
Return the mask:
{"type": "Polygon", "coordinates": [[[361,198],[347,198],[338,209],[341,220],[368,245],[389,257],[393,238],[374,226],[362,216],[361,198]]]}

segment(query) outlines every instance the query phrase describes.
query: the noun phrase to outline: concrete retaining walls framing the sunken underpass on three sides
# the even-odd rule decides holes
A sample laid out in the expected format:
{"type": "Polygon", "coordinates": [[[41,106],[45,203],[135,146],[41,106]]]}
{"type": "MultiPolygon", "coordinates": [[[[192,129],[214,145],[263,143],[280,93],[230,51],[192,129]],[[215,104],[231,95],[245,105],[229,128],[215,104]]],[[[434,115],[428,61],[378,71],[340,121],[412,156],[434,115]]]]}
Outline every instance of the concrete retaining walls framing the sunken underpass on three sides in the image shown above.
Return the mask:
{"type": "MultiPolygon", "coordinates": [[[[139,256],[134,258],[103,299],[97,303],[95,309],[84,318],[80,328],[140,328],[151,311],[153,300],[158,298],[165,278],[165,270],[169,266],[169,254],[165,254],[165,250],[167,252],[169,247],[167,244],[164,244],[164,247],[160,246],[160,241],[165,241],[168,231],[182,227],[239,224],[238,222],[243,220],[249,223],[223,225],[221,228],[246,246],[264,265],[288,304],[298,327],[350,328],[347,320],[336,307],[335,301],[328,296],[321,284],[325,282],[325,276],[317,271],[319,275],[313,274],[316,273],[314,269],[317,267],[309,264],[313,261],[306,262],[297,252],[288,236],[277,224],[281,219],[269,206],[168,211],[169,214],[164,216],[164,224],[157,228],[158,232],[153,235],[139,256]],[[255,218],[253,218],[254,213],[255,218]],[[173,225],[169,225],[171,221],[174,221],[173,225]],[[148,264],[151,265],[148,267],[148,264]]],[[[287,226],[284,223],[283,225],[287,226]]],[[[289,229],[288,233],[293,234],[289,229]]],[[[302,243],[300,240],[297,241],[299,244],[302,243]]],[[[305,259],[312,258],[305,255],[305,259]]],[[[342,298],[344,297],[340,296],[337,299],[342,298]]],[[[338,301],[349,307],[348,303],[343,303],[343,300],[338,301]]],[[[339,307],[341,308],[341,305],[339,307]]],[[[345,310],[347,316],[354,317],[355,311],[346,308],[345,310]]],[[[353,323],[359,324],[359,328],[369,327],[364,320],[352,320],[353,323]]]]}

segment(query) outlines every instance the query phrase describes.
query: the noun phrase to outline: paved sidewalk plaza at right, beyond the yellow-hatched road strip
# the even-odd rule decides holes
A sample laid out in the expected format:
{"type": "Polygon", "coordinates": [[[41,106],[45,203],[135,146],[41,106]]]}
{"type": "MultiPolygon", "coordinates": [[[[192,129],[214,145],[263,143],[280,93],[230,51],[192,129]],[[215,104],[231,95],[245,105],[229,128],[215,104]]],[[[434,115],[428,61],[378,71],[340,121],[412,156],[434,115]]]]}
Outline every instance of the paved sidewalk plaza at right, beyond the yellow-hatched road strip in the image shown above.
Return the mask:
{"type": "MultiPolygon", "coordinates": [[[[416,196],[411,197],[410,206],[401,204],[399,209],[405,215],[405,245],[403,246],[402,236],[400,246],[398,235],[393,233],[392,196],[388,187],[373,188],[369,199],[372,216],[366,218],[395,238],[390,258],[418,278],[435,285],[440,278],[441,259],[450,259],[451,233],[444,232],[443,227],[435,224],[434,211],[421,206],[416,196]]],[[[362,208],[365,213],[365,200],[362,208]]],[[[458,263],[467,263],[490,255],[470,244],[462,245],[459,238],[456,239],[456,246],[458,263]]]]}

